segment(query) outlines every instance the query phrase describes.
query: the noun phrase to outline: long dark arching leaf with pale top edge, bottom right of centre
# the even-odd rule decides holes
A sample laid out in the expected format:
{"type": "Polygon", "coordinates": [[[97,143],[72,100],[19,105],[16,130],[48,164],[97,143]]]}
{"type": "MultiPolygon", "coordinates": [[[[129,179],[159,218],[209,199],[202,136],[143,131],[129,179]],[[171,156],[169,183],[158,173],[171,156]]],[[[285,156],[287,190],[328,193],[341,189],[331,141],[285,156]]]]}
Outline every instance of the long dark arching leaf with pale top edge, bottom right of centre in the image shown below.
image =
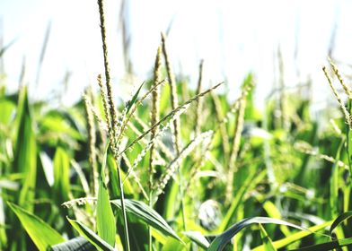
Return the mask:
{"type": "MultiPolygon", "coordinates": [[[[277,224],[277,225],[286,225],[289,227],[293,227],[295,229],[301,229],[301,230],[308,230],[304,229],[300,226],[297,226],[293,223],[287,222],[287,221],[282,221],[278,219],[273,219],[273,218],[268,218],[268,217],[252,217],[252,218],[247,218],[242,221],[239,221],[235,223],[230,229],[227,229],[224,231],[224,233],[220,234],[217,236],[213,242],[210,244],[210,247],[207,249],[208,251],[212,250],[223,250],[226,244],[235,236],[239,231],[241,231],[244,228],[247,228],[251,226],[252,224],[256,223],[261,223],[261,224],[277,224]]],[[[309,231],[309,230],[308,230],[309,231]]]]}

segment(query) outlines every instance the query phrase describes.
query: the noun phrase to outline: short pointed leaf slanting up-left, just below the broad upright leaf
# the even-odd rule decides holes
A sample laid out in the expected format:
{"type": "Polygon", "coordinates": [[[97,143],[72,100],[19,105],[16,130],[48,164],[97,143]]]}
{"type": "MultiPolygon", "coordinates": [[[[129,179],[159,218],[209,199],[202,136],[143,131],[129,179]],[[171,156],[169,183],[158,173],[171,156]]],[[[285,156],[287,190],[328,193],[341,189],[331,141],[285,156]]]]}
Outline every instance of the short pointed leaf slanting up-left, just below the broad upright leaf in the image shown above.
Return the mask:
{"type": "Polygon", "coordinates": [[[109,243],[100,238],[97,234],[95,234],[92,229],[89,229],[80,221],[74,221],[69,218],[67,220],[71,223],[71,225],[77,230],[77,232],[89,240],[95,247],[102,250],[114,250],[114,247],[111,247],[109,243]]]}

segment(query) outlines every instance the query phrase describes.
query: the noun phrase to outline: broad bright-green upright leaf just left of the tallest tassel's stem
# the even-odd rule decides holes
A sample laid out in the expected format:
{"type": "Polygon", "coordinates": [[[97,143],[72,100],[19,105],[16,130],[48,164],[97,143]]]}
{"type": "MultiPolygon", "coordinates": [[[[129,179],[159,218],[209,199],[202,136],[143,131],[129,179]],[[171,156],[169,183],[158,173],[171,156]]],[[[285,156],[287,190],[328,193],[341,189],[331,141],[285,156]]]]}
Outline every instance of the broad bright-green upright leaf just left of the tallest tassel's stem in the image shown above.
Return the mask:
{"type": "MultiPolygon", "coordinates": [[[[109,144],[108,144],[109,147],[109,144]]],[[[104,182],[104,169],[106,168],[107,151],[101,166],[101,176],[99,177],[99,191],[97,202],[97,229],[99,236],[108,242],[112,247],[115,246],[116,222],[112,212],[108,189],[104,182]]]]}

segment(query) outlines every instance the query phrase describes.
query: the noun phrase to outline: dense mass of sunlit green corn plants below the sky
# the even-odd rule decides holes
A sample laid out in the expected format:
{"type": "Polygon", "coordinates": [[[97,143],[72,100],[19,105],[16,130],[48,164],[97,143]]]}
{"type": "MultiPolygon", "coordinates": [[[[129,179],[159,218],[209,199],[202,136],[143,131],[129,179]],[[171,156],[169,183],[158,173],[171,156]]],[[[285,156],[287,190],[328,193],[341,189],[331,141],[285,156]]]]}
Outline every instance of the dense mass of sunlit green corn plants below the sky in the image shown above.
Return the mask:
{"type": "Polygon", "coordinates": [[[314,116],[295,89],[273,91],[259,108],[251,74],[237,100],[195,93],[181,79],[178,108],[169,84],[154,89],[161,120],[151,125],[154,84],[146,82],[113,120],[104,93],[92,94],[87,108],[84,100],[52,108],[30,102],[25,87],[13,95],[0,87],[1,250],[87,241],[99,250],[351,245],[352,137],[335,108],[314,116]]]}

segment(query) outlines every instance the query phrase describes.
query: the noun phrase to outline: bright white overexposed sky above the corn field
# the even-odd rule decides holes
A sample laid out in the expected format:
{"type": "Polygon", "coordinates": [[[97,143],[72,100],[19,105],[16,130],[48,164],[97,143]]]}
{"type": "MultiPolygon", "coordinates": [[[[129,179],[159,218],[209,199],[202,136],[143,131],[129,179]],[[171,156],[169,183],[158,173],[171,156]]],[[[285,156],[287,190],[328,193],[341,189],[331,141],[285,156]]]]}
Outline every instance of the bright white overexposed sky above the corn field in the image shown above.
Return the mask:
{"type": "MultiPolygon", "coordinates": [[[[119,93],[119,87],[126,84],[118,32],[120,0],[106,2],[111,73],[115,93],[119,93]]],[[[335,24],[333,56],[351,63],[352,1],[131,0],[127,4],[136,85],[150,76],[160,32],[172,20],[168,42],[175,72],[189,76],[191,84],[195,84],[198,62],[203,58],[206,83],[226,79],[233,96],[249,72],[256,75],[259,100],[268,94],[277,72],[275,53],[280,45],[286,84],[294,85],[311,76],[315,84],[314,99],[325,97],[321,94],[327,93],[329,87],[321,66],[326,65],[335,24]]],[[[67,101],[79,98],[89,83],[95,86],[96,75],[102,73],[97,11],[95,0],[1,0],[4,45],[16,39],[4,54],[4,72],[10,89],[18,86],[23,56],[33,97],[49,97],[63,82],[67,71],[72,72],[67,101]],[[40,50],[49,21],[48,48],[36,88],[40,50]]]]}

